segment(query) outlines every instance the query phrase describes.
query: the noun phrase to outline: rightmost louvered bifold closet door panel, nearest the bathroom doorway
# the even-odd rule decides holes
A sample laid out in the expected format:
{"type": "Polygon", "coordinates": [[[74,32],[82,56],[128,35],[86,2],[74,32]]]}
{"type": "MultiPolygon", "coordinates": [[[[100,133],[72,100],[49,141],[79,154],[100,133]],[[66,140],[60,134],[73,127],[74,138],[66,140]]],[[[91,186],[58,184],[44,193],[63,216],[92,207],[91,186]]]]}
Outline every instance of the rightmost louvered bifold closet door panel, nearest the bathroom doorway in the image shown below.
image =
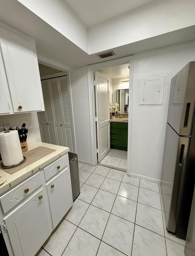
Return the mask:
{"type": "Polygon", "coordinates": [[[70,151],[74,152],[73,147],[73,132],[72,132],[72,123],[71,123],[71,113],[70,113],[70,100],[69,100],[69,87],[68,87],[68,78],[67,76],[59,78],[59,89],[62,105],[62,118],[64,121],[64,129],[66,133],[67,146],[70,148],[70,151]]]}

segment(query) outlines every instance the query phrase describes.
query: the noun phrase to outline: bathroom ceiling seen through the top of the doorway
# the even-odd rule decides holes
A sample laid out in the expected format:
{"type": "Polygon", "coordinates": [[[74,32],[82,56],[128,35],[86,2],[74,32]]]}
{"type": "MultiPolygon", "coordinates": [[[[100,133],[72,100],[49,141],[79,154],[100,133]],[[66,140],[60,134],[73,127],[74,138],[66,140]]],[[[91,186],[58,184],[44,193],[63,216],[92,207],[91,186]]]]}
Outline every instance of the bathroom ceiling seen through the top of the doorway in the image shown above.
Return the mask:
{"type": "Polygon", "coordinates": [[[129,76],[129,64],[123,64],[114,67],[107,67],[98,70],[101,74],[105,74],[108,78],[117,79],[129,76]]]}

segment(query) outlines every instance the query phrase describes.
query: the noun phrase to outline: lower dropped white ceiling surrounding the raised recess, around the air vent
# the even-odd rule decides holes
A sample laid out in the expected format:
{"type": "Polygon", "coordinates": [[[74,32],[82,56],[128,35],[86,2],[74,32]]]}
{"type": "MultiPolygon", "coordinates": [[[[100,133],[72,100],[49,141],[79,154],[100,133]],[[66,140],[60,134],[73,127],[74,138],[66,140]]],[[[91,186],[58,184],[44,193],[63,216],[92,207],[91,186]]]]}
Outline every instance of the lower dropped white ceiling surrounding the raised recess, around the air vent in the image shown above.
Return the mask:
{"type": "Polygon", "coordinates": [[[191,26],[113,48],[115,56],[100,59],[88,55],[16,0],[0,0],[0,21],[34,38],[38,59],[45,60],[42,64],[50,63],[62,71],[195,40],[195,26],[191,26]]]}

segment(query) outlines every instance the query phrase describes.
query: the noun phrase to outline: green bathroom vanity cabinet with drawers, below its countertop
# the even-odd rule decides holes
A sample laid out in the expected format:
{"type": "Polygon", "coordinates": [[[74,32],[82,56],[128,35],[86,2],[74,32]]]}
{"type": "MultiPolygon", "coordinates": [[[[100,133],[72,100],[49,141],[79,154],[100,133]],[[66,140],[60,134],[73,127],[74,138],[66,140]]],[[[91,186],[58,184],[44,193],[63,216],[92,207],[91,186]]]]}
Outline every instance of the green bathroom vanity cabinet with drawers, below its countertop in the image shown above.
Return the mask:
{"type": "Polygon", "coordinates": [[[127,151],[128,122],[110,122],[110,147],[127,151]]]}

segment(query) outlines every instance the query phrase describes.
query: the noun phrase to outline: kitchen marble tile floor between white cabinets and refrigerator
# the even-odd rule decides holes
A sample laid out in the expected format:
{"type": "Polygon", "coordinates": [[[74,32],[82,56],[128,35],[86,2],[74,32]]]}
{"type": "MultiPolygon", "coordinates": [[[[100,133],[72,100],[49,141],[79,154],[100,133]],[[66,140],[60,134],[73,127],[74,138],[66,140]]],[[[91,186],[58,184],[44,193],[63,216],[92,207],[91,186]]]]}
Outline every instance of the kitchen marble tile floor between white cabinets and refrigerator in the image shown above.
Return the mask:
{"type": "Polygon", "coordinates": [[[185,240],[166,231],[158,184],[79,168],[80,196],[36,256],[184,256],[185,240]]]}

